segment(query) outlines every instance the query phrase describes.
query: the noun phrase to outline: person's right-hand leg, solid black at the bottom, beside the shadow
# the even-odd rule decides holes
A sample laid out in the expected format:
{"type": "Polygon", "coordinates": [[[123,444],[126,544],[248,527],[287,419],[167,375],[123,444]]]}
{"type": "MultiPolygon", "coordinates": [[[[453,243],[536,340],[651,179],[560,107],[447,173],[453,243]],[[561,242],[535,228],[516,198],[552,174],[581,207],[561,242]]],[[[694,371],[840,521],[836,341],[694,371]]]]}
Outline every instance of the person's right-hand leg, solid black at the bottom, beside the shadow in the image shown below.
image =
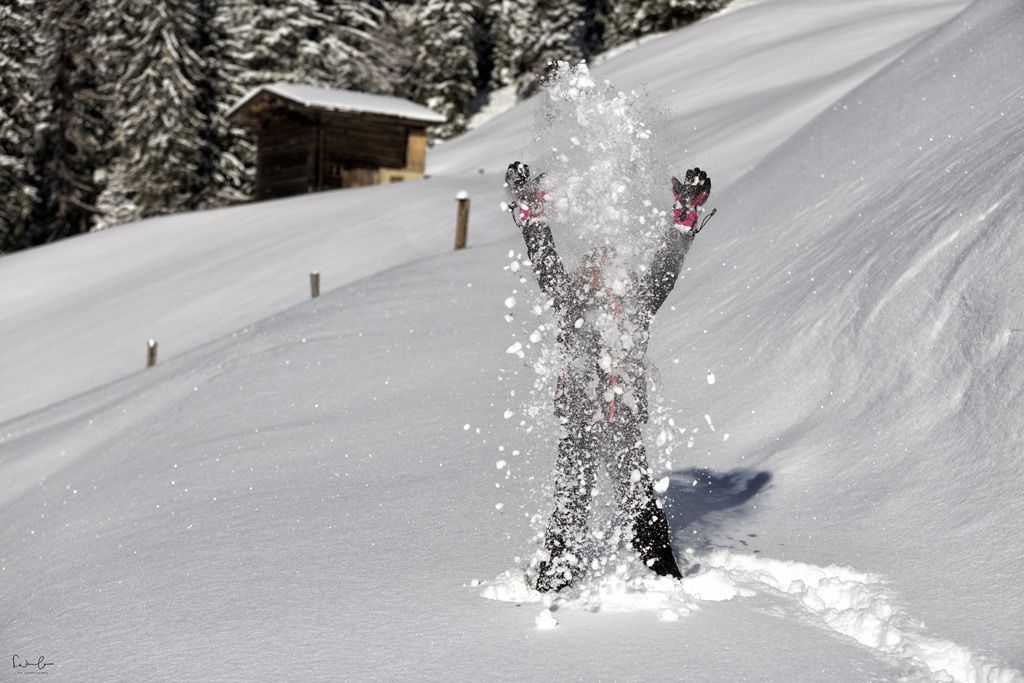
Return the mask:
{"type": "Polygon", "coordinates": [[[613,458],[609,468],[615,482],[615,502],[632,527],[634,550],[655,573],[682,578],[672,552],[669,521],[665,511],[657,507],[639,426],[617,426],[611,443],[613,458]]]}

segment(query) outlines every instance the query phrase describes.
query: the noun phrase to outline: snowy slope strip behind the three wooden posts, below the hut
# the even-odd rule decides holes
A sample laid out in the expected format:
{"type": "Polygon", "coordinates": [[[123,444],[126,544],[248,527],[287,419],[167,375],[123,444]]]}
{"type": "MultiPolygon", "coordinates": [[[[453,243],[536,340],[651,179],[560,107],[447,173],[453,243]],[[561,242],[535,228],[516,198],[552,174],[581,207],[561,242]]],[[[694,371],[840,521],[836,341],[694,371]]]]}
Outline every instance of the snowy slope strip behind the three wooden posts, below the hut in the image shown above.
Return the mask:
{"type": "Polygon", "coordinates": [[[494,179],[431,178],[169,216],[0,258],[0,420],[138,372],[322,289],[452,248],[455,196],[474,202],[471,244],[494,179]]]}

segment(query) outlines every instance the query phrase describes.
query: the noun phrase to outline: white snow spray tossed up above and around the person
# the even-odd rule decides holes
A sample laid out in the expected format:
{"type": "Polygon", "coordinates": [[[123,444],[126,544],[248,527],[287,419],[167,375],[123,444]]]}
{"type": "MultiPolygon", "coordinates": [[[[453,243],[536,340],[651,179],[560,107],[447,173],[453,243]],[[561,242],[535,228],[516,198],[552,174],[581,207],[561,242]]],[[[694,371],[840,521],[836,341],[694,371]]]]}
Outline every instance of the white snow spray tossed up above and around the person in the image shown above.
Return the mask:
{"type": "MultiPolygon", "coordinates": [[[[544,99],[529,162],[535,173],[545,173],[541,183],[544,211],[558,253],[566,270],[571,271],[588,254],[601,250],[605,281],[618,295],[625,295],[636,276],[646,270],[651,254],[671,225],[672,173],[662,156],[664,145],[653,132],[662,127],[665,111],[645,93],[623,92],[608,81],[597,83],[586,63],[556,63],[539,96],[544,99]]],[[[509,252],[509,258],[506,269],[516,276],[518,286],[505,300],[505,318],[515,323],[518,331],[516,341],[506,352],[531,370],[534,381],[526,395],[511,392],[505,418],[514,416],[518,420],[523,438],[521,464],[532,461],[532,469],[550,473],[563,431],[553,414],[553,397],[560,389],[566,364],[579,359],[562,357],[551,302],[529,285],[532,278],[528,261],[516,250],[509,252]]],[[[612,354],[616,345],[632,343],[624,339],[610,316],[597,325],[602,346],[612,354]]],[[[652,433],[645,441],[655,492],[664,494],[676,438],[685,430],[676,427],[656,391],[653,369],[648,371],[651,397],[646,430],[652,433]]],[[[513,476],[516,464],[516,459],[501,461],[503,479],[513,476]]],[[[538,546],[543,543],[553,505],[552,479],[550,474],[540,479],[519,479],[536,506],[536,512],[527,514],[538,546]]],[[[624,548],[624,525],[617,519],[611,490],[610,479],[600,472],[591,510],[590,546],[582,558],[594,581],[603,575],[622,582],[636,568],[629,566],[632,558],[624,548]]],[[[539,551],[523,567],[525,573],[536,570],[542,558],[543,551],[539,551]]]]}

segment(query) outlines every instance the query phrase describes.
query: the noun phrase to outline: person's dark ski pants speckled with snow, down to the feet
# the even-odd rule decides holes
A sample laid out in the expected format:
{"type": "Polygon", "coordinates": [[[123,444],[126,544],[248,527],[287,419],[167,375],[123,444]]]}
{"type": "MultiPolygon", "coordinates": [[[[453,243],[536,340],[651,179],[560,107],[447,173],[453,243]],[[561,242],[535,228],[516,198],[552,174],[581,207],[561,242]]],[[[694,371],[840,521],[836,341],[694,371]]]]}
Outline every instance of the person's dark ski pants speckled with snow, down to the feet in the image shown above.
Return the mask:
{"type": "Polygon", "coordinates": [[[614,501],[628,525],[624,530],[631,535],[631,543],[641,560],[659,574],[679,577],[669,539],[669,522],[657,507],[647,471],[640,425],[632,421],[596,422],[569,425],[558,443],[555,509],[545,536],[545,550],[551,559],[542,565],[539,585],[544,584],[546,572],[558,574],[549,588],[570,583],[571,579],[563,577],[565,571],[571,578],[583,573],[581,551],[598,467],[605,467],[611,476],[614,501]]]}

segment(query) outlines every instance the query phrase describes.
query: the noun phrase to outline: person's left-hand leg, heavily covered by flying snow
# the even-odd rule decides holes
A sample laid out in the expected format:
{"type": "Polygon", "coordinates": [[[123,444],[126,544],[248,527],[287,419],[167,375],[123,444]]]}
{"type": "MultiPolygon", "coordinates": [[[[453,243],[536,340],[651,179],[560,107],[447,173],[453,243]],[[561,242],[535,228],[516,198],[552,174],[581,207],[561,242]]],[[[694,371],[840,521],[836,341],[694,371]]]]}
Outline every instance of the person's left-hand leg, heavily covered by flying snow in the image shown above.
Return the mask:
{"type": "Polygon", "coordinates": [[[548,519],[537,590],[558,591],[583,573],[581,551],[587,536],[595,458],[588,429],[572,428],[558,442],[555,472],[555,509],[548,519]]]}

